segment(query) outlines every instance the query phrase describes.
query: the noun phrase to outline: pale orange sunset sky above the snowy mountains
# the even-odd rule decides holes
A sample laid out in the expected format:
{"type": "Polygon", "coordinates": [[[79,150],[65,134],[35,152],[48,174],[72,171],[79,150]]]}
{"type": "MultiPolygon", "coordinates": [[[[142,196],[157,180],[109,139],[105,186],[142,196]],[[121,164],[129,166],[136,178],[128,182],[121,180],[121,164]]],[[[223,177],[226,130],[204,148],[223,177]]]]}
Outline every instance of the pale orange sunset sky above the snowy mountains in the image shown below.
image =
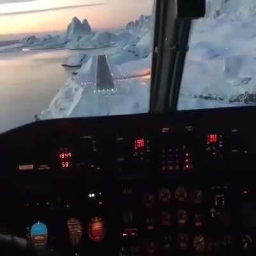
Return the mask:
{"type": "Polygon", "coordinates": [[[141,14],[151,14],[153,1],[0,0],[0,36],[65,31],[74,16],[87,19],[93,30],[125,28],[141,14]]]}

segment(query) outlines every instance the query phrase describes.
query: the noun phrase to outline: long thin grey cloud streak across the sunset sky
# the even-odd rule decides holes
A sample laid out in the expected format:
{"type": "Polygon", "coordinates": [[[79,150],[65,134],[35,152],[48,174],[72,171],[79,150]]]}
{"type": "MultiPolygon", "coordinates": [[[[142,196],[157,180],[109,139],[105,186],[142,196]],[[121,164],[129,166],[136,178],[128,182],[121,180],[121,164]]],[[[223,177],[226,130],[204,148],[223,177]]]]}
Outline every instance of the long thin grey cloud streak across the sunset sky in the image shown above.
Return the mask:
{"type": "MultiPolygon", "coordinates": [[[[7,0],[0,0],[0,1],[7,1],[7,0]]],[[[12,3],[15,1],[23,1],[23,2],[28,2],[28,1],[35,1],[35,0],[14,0],[12,3]]],[[[0,2],[1,3],[1,2],[0,2]]],[[[8,2],[11,3],[11,0],[8,2]]],[[[98,4],[79,4],[79,5],[70,5],[70,6],[61,6],[61,7],[55,7],[55,8],[46,8],[46,9],[39,9],[39,10],[29,10],[29,11],[22,11],[22,12],[6,12],[6,13],[1,13],[0,16],[9,16],[9,15],[18,15],[18,14],[28,14],[28,13],[39,13],[39,12],[51,12],[51,11],[58,11],[58,10],[66,10],[66,9],[74,9],[74,8],[82,8],[82,7],[90,7],[90,6],[98,6],[102,5],[104,3],[98,3],[98,4]]]]}

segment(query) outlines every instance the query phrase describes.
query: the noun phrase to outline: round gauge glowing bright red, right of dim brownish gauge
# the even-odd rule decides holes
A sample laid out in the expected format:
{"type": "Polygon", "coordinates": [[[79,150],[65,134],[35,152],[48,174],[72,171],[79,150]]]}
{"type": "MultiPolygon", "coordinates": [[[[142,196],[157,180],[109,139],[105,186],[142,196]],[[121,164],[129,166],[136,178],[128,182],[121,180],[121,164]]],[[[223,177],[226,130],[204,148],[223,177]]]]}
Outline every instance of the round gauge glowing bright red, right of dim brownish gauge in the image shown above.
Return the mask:
{"type": "Polygon", "coordinates": [[[101,242],[106,235],[106,226],[102,218],[92,218],[89,224],[89,237],[93,242],[101,242]]]}

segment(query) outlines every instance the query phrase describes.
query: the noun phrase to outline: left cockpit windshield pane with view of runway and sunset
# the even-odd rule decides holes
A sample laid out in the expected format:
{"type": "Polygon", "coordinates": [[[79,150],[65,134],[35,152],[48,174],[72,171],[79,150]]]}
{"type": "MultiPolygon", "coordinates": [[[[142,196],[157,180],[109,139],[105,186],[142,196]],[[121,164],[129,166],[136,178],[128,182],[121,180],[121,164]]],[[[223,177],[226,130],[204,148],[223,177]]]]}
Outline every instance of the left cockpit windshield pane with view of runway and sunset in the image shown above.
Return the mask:
{"type": "Polygon", "coordinates": [[[154,0],[1,0],[0,132],[146,113],[154,0]]]}

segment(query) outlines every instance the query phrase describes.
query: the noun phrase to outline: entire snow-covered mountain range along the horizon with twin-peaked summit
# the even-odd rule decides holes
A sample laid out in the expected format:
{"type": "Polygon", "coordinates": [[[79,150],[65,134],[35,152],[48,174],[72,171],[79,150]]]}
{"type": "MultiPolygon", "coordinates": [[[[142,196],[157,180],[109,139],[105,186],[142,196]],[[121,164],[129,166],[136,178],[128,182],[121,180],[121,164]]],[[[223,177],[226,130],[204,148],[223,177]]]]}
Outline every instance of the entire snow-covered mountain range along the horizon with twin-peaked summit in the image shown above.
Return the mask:
{"type": "Polygon", "coordinates": [[[150,52],[152,17],[141,15],[138,20],[131,21],[126,28],[116,32],[92,31],[88,20],[74,17],[62,35],[47,35],[37,38],[35,35],[20,40],[18,45],[1,48],[1,51],[21,51],[26,49],[95,49],[103,47],[124,47],[124,51],[132,52],[134,57],[147,58],[150,52]]]}

